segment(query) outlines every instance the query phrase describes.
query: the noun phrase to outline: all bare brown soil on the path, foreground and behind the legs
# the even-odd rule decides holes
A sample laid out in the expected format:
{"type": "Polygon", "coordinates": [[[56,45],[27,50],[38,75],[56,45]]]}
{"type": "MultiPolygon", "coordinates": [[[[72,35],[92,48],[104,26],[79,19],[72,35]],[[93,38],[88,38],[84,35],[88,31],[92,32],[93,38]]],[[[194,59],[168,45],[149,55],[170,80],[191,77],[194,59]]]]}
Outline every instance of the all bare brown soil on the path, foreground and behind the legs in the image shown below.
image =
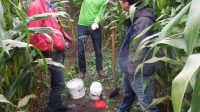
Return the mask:
{"type": "MultiPolygon", "coordinates": [[[[67,53],[67,61],[69,62],[69,64],[74,64],[76,61],[76,54],[74,52],[74,48],[70,48],[68,50],[69,52],[67,53]]],[[[93,45],[92,45],[92,41],[91,39],[88,39],[87,42],[87,46],[86,46],[86,57],[88,57],[88,55],[90,53],[93,52],[93,45]]],[[[86,77],[87,78],[87,77],[86,77]]],[[[88,88],[88,87],[86,87],[88,88]]],[[[95,108],[95,102],[92,101],[89,97],[89,91],[86,91],[86,95],[81,98],[81,99],[70,99],[70,98],[65,98],[65,103],[66,104],[76,104],[77,108],[74,110],[70,110],[67,112],[116,112],[117,111],[117,107],[119,105],[120,102],[120,97],[121,97],[121,91],[120,94],[117,95],[116,97],[114,97],[113,99],[109,99],[108,96],[110,95],[110,93],[113,91],[113,88],[110,87],[109,89],[105,89],[103,90],[103,95],[102,95],[102,100],[104,100],[106,102],[107,108],[106,109],[97,109],[95,108]]],[[[46,95],[45,97],[43,97],[43,107],[40,107],[40,109],[35,110],[35,112],[47,112],[47,102],[48,102],[48,93],[49,89],[45,92],[46,95]]],[[[66,93],[67,94],[67,93],[66,93]]],[[[68,95],[65,95],[68,96],[68,95]]]]}

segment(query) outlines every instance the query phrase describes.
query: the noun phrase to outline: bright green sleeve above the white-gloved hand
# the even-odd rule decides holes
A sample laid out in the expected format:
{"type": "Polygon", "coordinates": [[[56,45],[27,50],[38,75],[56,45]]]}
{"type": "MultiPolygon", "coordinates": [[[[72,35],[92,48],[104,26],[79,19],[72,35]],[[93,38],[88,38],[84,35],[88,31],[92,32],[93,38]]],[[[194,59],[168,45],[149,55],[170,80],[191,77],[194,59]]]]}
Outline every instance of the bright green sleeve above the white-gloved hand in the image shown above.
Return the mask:
{"type": "Polygon", "coordinates": [[[107,0],[104,0],[101,7],[100,7],[100,10],[99,10],[99,13],[97,14],[96,18],[95,18],[95,23],[99,23],[103,14],[104,14],[104,11],[106,9],[106,5],[107,5],[107,0]]]}

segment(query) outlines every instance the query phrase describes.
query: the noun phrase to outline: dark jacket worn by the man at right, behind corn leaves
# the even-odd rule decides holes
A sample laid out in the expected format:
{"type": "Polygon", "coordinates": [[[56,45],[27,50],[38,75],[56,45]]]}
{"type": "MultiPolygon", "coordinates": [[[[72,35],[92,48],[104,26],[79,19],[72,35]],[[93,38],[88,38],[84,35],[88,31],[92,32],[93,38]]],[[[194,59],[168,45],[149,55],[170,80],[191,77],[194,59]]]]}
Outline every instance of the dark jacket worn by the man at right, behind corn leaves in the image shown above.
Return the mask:
{"type": "MultiPolygon", "coordinates": [[[[152,35],[154,32],[148,32],[147,34],[145,34],[145,36],[141,37],[139,41],[133,46],[133,48],[129,48],[129,45],[139,33],[152,25],[154,22],[155,15],[153,13],[153,10],[148,7],[136,9],[133,23],[131,23],[130,19],[125,20],[127,33],[119,54],[120,69],[123,73],[134,76],[136,67],[143,62],[144,57],[148,52],[148,48],[144,48],[141,50],[135,62],[132,62],[133,55],[135,54],[135,51],[138,48],[140,42],[147,36],[152,35]]],[[[149,59],[150,57],[151,55],[147,56],[147,59],[149,59]]],[[[146,64],[143,69],[143,74],[151,75],[153,72],[152,70],[152,67],[146,64]]]]}

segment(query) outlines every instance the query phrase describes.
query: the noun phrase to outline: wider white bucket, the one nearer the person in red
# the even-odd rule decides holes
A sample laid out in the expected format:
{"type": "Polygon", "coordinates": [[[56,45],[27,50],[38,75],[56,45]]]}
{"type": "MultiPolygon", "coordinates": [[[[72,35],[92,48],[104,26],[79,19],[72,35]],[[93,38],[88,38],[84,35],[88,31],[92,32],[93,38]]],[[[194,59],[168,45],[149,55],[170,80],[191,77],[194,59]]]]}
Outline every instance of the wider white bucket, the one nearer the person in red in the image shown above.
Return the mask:
{"type": "Polygon", "coordinates": [[[85,96],[85,87],[82,79],[72,79],[67,82],[67,88],[69,90],[70,98],[79,99],[85,96]]]}

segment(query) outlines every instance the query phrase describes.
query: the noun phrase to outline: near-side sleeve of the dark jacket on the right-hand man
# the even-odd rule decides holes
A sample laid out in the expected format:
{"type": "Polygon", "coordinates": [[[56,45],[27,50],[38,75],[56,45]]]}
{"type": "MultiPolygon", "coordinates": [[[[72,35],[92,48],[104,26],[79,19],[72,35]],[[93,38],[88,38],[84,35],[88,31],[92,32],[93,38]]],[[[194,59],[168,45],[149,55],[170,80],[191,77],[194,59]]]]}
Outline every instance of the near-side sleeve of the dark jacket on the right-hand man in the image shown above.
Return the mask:
{"type": "MultiPolygon", "coordinates": [[[[149,17],[139,17],[135,20],[134,27],[133,27],[133,32],[130,34],[133,38],[135,38],[135,36],[137,36],[138,34],[140,34],[142,31],[144,31],[146,28],[148,28],[149,26],[151,26],[154,23],[154,21],[149,18],[149,17]]],[[[143,67],[141,69],[139,69],[139,71],[137,71],[138,73],[136,73],[136,69],[137,66],[142,64],[143,62],[145,62],[146,60],[152,58],[152,51],[149,51],[149,47],[144,47],[142,49],[140,49],[137,58],[134,60],[133,62],[133,57],[135,56],[138,47],[140,46],[140,43],[148,36],[154,34],[154,31],[149,31],[147,33],[145,33],[143,36],[141,36],[138,41],[133,45],[130,46],[130,52],[129,52],[129,56],[128,56],[128,64],[127,64],[127,68],[128,68],[128,73],[133,75],[138,75],[139,73],[145,74],[145,75],[152,75],[153,70],[154,70],[154,64],[148,64],[148,63],[144,63],[143,67]]]]}

